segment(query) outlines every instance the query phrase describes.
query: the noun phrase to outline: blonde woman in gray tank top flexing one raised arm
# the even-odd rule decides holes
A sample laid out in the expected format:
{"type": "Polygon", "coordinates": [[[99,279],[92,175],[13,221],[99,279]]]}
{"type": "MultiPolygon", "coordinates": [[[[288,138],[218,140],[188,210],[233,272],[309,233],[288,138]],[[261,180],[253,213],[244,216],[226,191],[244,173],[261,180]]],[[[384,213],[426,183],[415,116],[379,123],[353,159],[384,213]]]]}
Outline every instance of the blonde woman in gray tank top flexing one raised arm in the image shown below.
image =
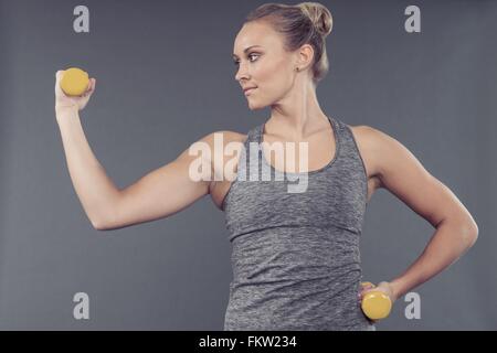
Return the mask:
{"type": "Polygon", "coordinates": [[[271,118],[246,135],[218,131],[197,141],[213,151],[202,162],[221,176],[214,180],[192,178],[198,160],[188,149],[118,190],[92,153],[80,121],[78,110],[93,95],[95,78],[75,98],[62,93],[62,72],[56,74],[55,111],[67,165],[95,228],[163,218],[208,193],[225,212],[234,277],[225,330],[376,330],[360,308],[371,288],[360,287],[359,238],[367,203],[380,188],[436,228],[406,271],[376,288],[392,302],[450,266],[477,238],[469,212],[403,145],[321,110],[316,86],[328,72],[325,39],[331,25],[330,12],[316,2],[268,3],[246,18],[234,42],[235,79],[250,108],[269,106],[271,118]],[[241,178],[253,165],[243,158],[225,168],[232,160],[215,149],[218,137],[244,151],[250,143],[261,146],[257,178],[241,178]],[[283,142],[307,147],[308,153],[293,161],[306,168],[295,172],[273,160],[268,145],[283,142]],[[268,173],[303,178],[306,188],[288,192],[286,179],[268,182],[268,173]]]}

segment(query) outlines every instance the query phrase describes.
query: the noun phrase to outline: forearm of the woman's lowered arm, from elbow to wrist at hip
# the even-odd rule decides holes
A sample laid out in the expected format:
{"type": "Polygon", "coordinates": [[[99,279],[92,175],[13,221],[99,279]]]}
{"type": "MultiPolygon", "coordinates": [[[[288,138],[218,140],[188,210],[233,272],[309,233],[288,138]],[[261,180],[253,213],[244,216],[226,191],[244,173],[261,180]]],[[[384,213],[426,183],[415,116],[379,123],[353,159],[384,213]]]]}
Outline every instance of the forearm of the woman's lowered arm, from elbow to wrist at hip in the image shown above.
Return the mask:
{"type": "Polygon", "coordinates": [[[395,298],[402,297],[455,263],[473,246],[476,237],[477,232],[467,223],[442,222],[421,256],[404,274],[390,281],[395,298]]]}

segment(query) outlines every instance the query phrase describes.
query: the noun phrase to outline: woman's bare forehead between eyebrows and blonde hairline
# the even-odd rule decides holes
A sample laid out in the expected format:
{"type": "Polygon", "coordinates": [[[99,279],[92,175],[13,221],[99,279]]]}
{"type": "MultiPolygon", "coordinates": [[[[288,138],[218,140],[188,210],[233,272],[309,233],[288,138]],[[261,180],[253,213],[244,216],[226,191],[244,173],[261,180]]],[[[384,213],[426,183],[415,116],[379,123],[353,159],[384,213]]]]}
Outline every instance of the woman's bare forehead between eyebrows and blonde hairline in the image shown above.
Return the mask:
{"type": "Polygon", "coordinates": [[[264,22],[245,23],[235,38],[233,54],[242,55],[243,51],[252,45],[261,45],[263,47],[277,46],[281,42],[278,33],[276,33],[269,24],[264,22]]]}

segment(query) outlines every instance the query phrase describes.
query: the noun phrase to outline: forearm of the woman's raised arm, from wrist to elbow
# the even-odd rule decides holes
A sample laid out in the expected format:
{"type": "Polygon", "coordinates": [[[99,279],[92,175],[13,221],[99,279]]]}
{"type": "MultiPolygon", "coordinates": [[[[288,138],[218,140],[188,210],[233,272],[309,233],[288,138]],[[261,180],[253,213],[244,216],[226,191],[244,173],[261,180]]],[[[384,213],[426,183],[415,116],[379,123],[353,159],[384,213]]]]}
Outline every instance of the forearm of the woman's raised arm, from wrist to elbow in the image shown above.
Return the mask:
{"type": "Polygon", "coordinates": [[[93,226],[98,227],[110,216],[119,190],[95,158],[77,109],[56,109],[55,114],[74,189],[93,226]]]}

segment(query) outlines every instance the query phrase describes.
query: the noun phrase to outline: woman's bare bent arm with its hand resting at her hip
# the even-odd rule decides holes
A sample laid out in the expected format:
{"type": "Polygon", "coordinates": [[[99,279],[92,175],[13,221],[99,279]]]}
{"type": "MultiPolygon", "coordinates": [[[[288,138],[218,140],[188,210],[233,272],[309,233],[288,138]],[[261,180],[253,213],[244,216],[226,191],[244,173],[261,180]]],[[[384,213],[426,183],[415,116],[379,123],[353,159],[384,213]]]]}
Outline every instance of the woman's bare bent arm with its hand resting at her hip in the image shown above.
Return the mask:
{"type": "MultiPolygon", "coordinates": [[[[374,128],[361,128],[378,161],[380,188],[389,190],[436,229],[421,256],[402,275],[376,288],[394,301],[454,264],[475,244],[478,226],[454,193],[402,143],[374,128]]],[[[360,298],[371,290],[362,290],[360,298]]]]}

